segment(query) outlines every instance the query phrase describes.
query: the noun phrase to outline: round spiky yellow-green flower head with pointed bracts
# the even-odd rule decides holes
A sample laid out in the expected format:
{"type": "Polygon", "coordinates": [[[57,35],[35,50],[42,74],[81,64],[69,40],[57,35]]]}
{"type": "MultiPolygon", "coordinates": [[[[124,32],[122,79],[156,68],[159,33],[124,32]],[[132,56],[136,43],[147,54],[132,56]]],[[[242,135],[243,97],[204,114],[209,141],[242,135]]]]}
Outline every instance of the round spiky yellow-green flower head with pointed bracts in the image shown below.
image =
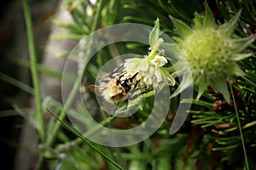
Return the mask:
{"type": "MultiPolygon", "coordinates": [[[[197,99],[201,97],[208,85],[224,95],[230,101],[226,79],[232,75],[242,76],[243,71],[237,61],[252,54],[241,54],[254,37],[236,38],[231,33],[241,14],[239,11],[229,22],[217,26],[212,12],[206,6],[205,16],[195,14],[195,26],[190,28],[181,20],[172,18],[180,38],[178,48],[188,61],[195,86],[199,88],[197,99]]],[[[183,59],[177,65],[182,65],[183,59]]]]}

